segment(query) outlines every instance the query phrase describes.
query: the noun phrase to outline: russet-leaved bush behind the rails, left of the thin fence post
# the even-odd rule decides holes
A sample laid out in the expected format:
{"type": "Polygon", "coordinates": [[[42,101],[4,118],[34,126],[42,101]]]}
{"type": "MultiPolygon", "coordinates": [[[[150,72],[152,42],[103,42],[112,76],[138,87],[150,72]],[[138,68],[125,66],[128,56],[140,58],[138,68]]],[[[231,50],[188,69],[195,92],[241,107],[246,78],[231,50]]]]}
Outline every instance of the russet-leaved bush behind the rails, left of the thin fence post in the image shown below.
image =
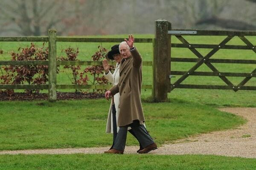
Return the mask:
{"type": "MultiPolygon", "coordinates": [[[[33,43],[30,47],[20,48],[18,52],[11,52],[12,61],[35,61],[35,60],[47,60],[48,48],[37,48],[33,43]]],[[[0,77],[1,84],[46,84],[48,82],[48,65],[9,65],[3,66],[3,70],[6,74],[0,77]]],[[[13,89],[5,91],[7,94],[12,95],[13,89]]],[[[26,94],[32,94],[32,92],[39,93],[39,89],[25,90],[26,94]]]]}

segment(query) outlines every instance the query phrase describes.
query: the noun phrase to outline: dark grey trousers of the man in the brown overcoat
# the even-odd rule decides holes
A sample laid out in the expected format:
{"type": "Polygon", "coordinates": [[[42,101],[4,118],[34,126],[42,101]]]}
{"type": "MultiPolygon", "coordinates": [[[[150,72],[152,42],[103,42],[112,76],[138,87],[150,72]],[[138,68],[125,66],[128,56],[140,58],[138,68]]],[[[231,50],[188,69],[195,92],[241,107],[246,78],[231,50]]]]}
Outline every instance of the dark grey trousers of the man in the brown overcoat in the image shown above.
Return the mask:
{"type": "Polygon", "coordinates": [[[137,139],[143,148],[154,143],[153,138],[149,135],[145,126],[140,125],[139,121],[134,121],[130,125],[119,127],[119,131],[117,133],[116,140],[115,140],[114,146],[113,146],[114,149],[125,150],[128,126],[130,126],[132,128],[135,136],[137,136],[137,139]]]}

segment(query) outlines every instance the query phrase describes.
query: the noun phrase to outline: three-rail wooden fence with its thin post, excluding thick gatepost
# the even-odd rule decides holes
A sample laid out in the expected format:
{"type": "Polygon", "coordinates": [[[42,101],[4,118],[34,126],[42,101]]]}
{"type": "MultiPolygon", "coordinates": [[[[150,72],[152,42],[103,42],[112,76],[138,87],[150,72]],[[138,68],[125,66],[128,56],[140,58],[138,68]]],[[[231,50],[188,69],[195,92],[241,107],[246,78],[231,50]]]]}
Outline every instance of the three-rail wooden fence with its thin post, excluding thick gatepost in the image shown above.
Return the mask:
{"type": "MultiPolygon", "coordinates": [[[[49,101],[57,99],[57,89],[108,89],[112,85],[61,85],[57,84],[58,65],[102,65],[101,61],[57,61],[57,42],[122,42],[123,38],[80,38],[56,37],[56,30],[49,29],[48,37],[0,37],[2,42],[49,42],[49,60],[44,61],[0,61],[0,65],[48,65],[49,82],[45,85],[0,85],[0,89],[48,89],[49,101]]],[[[151,38],[136,38],[136,42],[152,43],[151,38]]],[[[110,62],[115,65],[115,62],[110,62]]],[[[143,66],[152,66],[152,61],[143,61],[143,66]]],[[[143,89],[152,89],[152,85],[142,85],[143,89]]]]}

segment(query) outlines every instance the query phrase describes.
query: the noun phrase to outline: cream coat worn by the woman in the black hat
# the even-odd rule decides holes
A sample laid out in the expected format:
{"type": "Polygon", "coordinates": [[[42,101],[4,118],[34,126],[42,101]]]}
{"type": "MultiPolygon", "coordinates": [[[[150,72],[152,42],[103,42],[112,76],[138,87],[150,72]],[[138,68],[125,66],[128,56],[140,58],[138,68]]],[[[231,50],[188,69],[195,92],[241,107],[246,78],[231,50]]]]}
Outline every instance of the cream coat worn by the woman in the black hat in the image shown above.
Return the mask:
{"type": "MultiPolygon", "coordinates": [[[[120,68],[120,64],[117,62],[116,68],[115,68],[115,71],[113,72],[113,74],[111,74],[110,71],[108,71],[108,74],[104,73],[104,76],[106,77],[106,79],[108,79],[108,81],[111,82],[113,86],[117,85],[119,82],[119,68],[120,68]]],[[[115,107],[116,107],[116,122],[117,122],[118,116],[119,116],[119,98],[120,98],[119,93],[114,95],[114,102],[115,102],[115,107]]],[[[117,127],[117,131],[118,130],[119,130],[119,127],[117,127]]],[[[108,121],[107,121],[106,133],[113,133],[112,100],[111,100],[110,108],[108,111],[108,121]]]]}

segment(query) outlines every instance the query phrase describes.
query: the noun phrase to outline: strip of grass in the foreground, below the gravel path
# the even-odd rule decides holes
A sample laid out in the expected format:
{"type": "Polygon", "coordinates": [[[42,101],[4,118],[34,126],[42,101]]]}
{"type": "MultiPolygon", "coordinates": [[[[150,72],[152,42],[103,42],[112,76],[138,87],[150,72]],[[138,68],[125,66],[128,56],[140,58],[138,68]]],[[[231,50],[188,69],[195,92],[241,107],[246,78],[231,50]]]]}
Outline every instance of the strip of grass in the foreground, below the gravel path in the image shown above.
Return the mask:
{"type": "Polygon", "coordinates": [[[255,159],[202,155],[0,155],[1,170],[255,170],[255,159]]]}

